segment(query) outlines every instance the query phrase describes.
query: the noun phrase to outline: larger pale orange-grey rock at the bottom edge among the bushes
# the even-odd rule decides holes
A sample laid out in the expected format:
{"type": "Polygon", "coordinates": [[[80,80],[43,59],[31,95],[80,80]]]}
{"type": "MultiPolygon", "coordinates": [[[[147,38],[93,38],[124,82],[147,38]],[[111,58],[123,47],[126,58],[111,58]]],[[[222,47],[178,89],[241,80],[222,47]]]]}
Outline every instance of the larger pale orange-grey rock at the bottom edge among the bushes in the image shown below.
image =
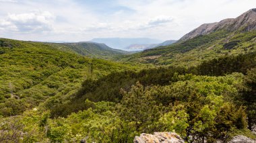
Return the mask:
{"type": "Polygon", "coordinates": [[[134,143],[184,143],[184,140],[176,133],[155,132],[154,134],[141,134],[135,136],[134,143]]]}

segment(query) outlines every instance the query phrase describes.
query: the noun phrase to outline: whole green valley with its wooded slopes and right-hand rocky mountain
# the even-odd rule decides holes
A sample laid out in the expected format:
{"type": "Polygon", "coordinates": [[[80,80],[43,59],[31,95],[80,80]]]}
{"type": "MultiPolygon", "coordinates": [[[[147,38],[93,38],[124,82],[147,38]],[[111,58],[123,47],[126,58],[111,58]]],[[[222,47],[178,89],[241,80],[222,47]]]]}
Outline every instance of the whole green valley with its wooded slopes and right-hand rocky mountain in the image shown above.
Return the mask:
{"type": "Polygon", "coordinates": [[[255,9],[141,52],[92,41],[0,38],[0,142],[256,139],[255,9]]]}

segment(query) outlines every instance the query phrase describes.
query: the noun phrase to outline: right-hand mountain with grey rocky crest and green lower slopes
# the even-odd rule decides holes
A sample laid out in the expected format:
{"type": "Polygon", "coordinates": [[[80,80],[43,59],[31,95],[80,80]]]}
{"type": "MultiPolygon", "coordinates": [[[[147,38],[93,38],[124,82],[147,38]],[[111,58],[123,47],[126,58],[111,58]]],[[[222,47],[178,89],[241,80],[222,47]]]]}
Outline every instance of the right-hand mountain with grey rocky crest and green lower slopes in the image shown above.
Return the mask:
{"type": "Polygon", "coordinates": [[[125,55],[119,60],[154,64],[191,66],[203,60],[256,50],[256,10],[234,19],[203,24],[170,46],[160,46],[125,55]]]}

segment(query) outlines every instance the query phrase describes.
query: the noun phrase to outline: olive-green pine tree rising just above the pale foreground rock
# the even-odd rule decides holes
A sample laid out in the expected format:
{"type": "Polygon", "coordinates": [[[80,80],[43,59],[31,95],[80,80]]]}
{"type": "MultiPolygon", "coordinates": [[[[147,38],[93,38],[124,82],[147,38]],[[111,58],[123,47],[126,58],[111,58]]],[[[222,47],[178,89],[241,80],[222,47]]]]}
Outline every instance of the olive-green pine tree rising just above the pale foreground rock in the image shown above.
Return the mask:
{"type": "Polygon", "coordinates": [[[137,82],[131,91],[123,92],[123,99],[119,104],[119,114],[127,122],[134,123],[137,132],[154,131],[152,123],[157,122],[162,114],[162,104],[156,103],[149,87],[137,82]]]}

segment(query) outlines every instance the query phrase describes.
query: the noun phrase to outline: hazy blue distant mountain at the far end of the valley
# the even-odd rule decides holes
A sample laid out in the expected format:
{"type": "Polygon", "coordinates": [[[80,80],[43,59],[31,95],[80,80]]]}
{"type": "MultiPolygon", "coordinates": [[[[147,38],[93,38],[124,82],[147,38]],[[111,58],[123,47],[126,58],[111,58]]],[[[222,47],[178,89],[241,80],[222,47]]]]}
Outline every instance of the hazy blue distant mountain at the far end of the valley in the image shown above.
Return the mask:
{"type": "Polygon", "coordinates": [[[104,43],[112,48],[129,50],[127,47],[132,44],[156,44],[162,41],[152,38],[94,38],[91,42],[104,43]]]}

